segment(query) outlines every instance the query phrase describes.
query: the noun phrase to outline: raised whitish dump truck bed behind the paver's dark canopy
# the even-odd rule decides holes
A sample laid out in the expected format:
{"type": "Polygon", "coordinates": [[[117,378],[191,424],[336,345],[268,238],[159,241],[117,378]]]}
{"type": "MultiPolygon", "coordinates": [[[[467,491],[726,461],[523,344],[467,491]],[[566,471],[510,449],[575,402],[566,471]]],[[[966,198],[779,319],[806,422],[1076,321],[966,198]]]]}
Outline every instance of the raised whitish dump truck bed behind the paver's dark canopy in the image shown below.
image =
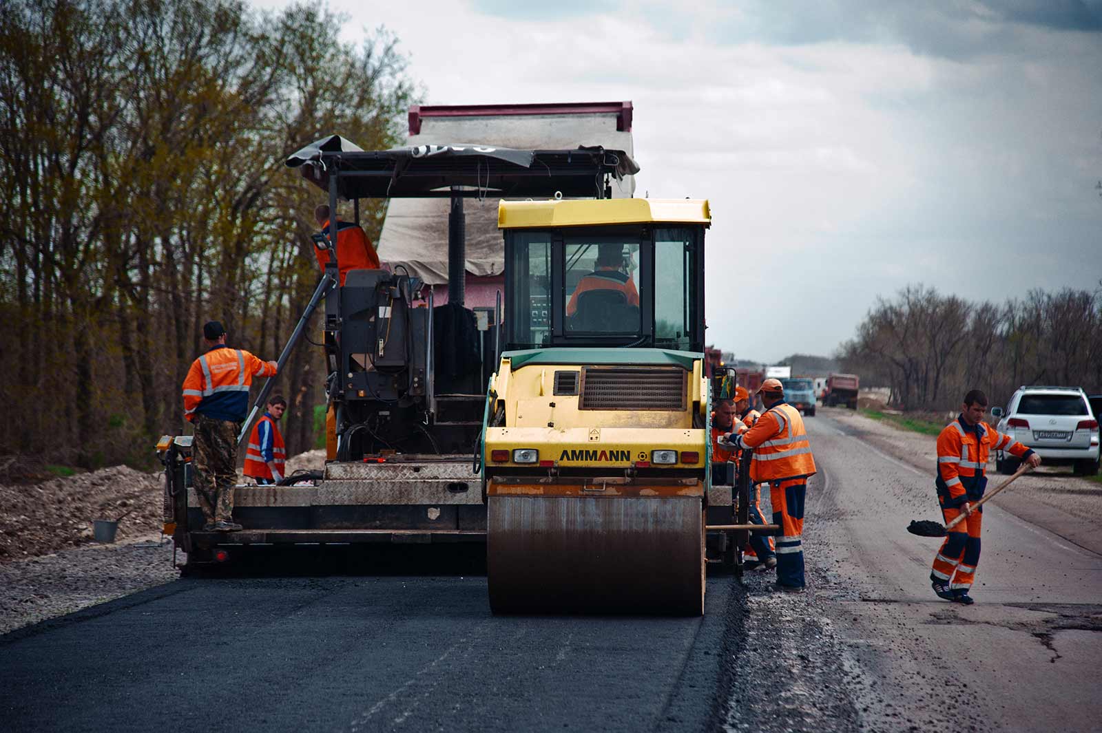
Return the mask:
{"type": "MultiPolygon", "coordinates": [[[[615,113],[515,114],[508,117],[425,118],[421,134],[409,145],[447,145],[475,141],[519,150],[570,150],[602,145],[634,156],[631,133],[616,130],[615,113]]],[[[613,198],[630,198],[635,176],[613,179],[613,198]]],[[[549,195],[554,192],[549,192],[549,195]]],[[[497,198],[465,198],[466,270],[473,275],[497,275],[505,267],[501,232],[497,228],[497,198]]],[[[447,282],[447,198],[392,198],[379,238],[379,259],[406,265],[426,283],[447,282]]]]}

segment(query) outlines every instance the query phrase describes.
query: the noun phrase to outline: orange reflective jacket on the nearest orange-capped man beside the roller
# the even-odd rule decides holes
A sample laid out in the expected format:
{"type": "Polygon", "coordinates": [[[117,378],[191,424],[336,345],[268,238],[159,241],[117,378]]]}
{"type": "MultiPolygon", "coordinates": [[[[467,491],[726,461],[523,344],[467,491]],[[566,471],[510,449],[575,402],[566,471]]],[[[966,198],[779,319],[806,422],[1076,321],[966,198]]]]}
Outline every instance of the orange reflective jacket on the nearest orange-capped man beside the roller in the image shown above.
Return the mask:
{"type": "Polygon", "coordinates": [[[815,460],[800,411],[791,405],[774,405],[743,434],[743,445],[754,449],[750,479],[779,481],[815,473],[815,460]]]}

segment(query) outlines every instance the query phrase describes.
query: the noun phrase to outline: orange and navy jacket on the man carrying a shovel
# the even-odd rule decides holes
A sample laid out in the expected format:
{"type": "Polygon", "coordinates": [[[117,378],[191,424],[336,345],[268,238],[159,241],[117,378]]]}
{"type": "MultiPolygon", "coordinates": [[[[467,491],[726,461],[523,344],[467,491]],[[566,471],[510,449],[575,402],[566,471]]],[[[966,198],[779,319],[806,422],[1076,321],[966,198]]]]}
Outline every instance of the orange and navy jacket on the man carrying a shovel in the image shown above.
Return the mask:
{"type": "Polygon", "coordinates": [[[984,472],[992,450],[1026,458],[1033,450],[986,423],[971,426],[961,415],[938,436],[938,479],[934,485],[946,506],[960,506],[965,497],[979,501],[987,485],[984,472]]]}

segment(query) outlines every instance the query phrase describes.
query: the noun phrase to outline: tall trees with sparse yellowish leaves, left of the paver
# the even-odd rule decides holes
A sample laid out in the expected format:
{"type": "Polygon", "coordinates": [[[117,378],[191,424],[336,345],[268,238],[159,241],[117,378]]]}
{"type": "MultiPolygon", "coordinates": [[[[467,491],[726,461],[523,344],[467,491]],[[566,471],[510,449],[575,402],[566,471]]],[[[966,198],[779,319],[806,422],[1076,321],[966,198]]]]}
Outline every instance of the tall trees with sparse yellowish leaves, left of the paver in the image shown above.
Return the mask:
{"type": "MultiPolygon", "coordinates": [[[[317,2],[2,6],[0,452],[148,462],[185,426],[202,324],[276,359],[314,291],[325,197],[285,156],[333,132],[398,144],[417,88],[396,37],[342,42],[317,2]]],[[[382,207],[360,210],[372,241],[382,207]]],[[[321,349],[300,346],[278,380],[289,451],[309,449],[321,349]]]]}

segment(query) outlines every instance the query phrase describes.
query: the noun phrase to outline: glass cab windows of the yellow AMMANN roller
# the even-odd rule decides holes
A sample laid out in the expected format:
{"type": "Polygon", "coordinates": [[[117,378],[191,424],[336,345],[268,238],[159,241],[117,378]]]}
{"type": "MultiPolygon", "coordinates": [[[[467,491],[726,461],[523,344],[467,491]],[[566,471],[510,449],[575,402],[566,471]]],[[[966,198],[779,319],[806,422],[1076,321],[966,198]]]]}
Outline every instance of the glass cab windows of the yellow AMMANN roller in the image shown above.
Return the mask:
{"type": "Polygon", "coordinates": [[[692,350],[702,239],[694,227],[506,232],[506,348],[692,350]]]}

